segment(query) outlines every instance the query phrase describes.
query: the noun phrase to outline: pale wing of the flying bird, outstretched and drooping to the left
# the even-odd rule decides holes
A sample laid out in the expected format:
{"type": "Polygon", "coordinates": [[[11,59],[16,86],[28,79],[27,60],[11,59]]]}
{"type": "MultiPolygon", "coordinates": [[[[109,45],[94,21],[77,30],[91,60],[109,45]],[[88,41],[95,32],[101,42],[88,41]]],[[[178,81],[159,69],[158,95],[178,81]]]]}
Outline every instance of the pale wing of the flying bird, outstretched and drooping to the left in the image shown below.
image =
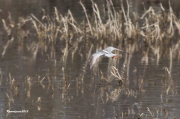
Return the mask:
{"type": "Polygon", "coordinates": [[[97,51],[96,53],[94,53],[94,54],[91,56],[91,58],[90,58],[90,60],[89,60],[89,62],[90,62],[90,68],[91,68],[91,69],[92,69],[93,65],[96,63],[97,59],[98,59],[100,56],[104,55],[104,54],[105,54],[105,53],[104,53],[103,51],[97,51]]]}

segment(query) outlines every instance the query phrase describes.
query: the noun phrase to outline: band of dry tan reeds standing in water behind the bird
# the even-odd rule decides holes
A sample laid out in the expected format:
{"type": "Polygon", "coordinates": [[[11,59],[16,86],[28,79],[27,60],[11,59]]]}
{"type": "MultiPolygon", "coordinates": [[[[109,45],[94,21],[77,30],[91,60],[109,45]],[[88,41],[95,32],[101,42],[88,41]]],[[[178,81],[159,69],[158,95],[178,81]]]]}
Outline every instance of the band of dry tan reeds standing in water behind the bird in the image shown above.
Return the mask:
{"type": "MultiPolygon", "coordinates": [[[[34,59],[38,52],[48,53],[49,58],[55,59],[55,51],[58,50],[63,54],[64,62],[69,49],[72,47],[76,51],[77,44],[80,42],[93,45],[95,42],[118,44],[118,47],[125,45],[126,49],[129,43],[135,42],[138,42],[137,45],[152,49],[155,47],[164,49],[164,45],[169,46],[170,42],[177,42],[172,40],[180,34],[180,23],[173,13],[170,2],[169,10],[165,10],[160,4],[158,10],[150,7],[142,15],[136,12],[130,14],[128,1],[127,10],[122,0],[120,10],[114,8],[111,0],[107,0],[106,4],[107,11],[102,15],[97,4],[92,1],[93,14],[90,18],[85,6],[80,2],[86,18],[80,23],[76,21],[71,11],[63,16],[56,8],[51,17],[43,10],[41,19],[31,14],[27,18],[20,17],[18,23],[15,23],[9,14],[8,19],[2,20],[5,36],[9,39],[4,43],[6,45],[4,45],[2,57],[14,38],[18,41],[19,47],[26,46],[34,59]],[[59,46],[63,42],[66,45],[59,46]]],[[[100,48],[100,44],[96,44],[96,47],[100,48]]],[[[158,57],[160,58],[161,55],[159,54],[158,57]]]]}

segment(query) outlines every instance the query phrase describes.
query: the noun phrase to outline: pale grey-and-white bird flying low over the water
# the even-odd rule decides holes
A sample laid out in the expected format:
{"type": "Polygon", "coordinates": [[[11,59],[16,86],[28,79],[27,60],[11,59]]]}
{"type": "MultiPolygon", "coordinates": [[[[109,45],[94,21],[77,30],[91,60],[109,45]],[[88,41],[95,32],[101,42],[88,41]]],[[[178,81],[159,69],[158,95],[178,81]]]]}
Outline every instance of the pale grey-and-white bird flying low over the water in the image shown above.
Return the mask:
{"type": "MultiPolygon", "coordinates": [[[[117,54],[113,54],[112,53],[113,50],[122,51],[120,49],[117,49],[117,48],[114,48],[114,47],[110,46],[110,47],[107,47],[107,48],[105,48],[103,50],[98,50],[96,53],[94,53],[90,57],[90,60],[89,60],[89,62],[90,62],[90,69],[92,69],[93,65],[97,62],[97,59],[100,56],[105,56],[105,57],[116,59],[117,58],[117,54]]],[[[122,52],[124,52],[124,51],[122,51],[122,52]]]]}

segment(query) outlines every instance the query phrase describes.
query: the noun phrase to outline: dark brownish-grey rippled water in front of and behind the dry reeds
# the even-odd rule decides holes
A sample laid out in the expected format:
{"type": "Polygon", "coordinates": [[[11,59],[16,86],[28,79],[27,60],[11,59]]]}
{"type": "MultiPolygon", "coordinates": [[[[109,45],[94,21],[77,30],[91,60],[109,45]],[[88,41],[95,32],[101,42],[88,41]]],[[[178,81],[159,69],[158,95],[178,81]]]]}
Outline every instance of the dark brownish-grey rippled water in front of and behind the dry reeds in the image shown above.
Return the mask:
{"type": "MultiPolygon", "coordinates": [[[[91,2],[82,2],[91,13],[91,2]]],[[[113,2],[118,9],[120,2],[113,2]]],[[[141,0],[129,2],[132,11],[141,13],[144,9],[141,0]]],[[[156,0],[144,3],[148,8],[149,5],[158,5],[159,2],[156,0]]],[[[165,0],[161,2],[168,9],[168,2],[165,0]]],[[[103,7],[103,1],[97,3],[100,8],[103,7]]],[[[178,14],[179,3],[174,0],[171,4],[178,14]]],[[[83,19],[82,8],[73,0],[0,0],[0,19],[7,19],[8,12],[15,21],[31,13],[40,18],[42,8],[47,14],[52,14],[54,6],[61,14],[65,14],[70,9],[77,19],[83,19]]],[[[1,53],[6,41],[7,38],[0,31],[1,53]]],[[[115,61],[104,58],[99,63],[97,72],[93,74],[86,57],[90,46],[84,47],[79,44],[74,54],[73,50],[69,50],[67,61],[64,62],[60,52],[57,52],[53,60],[49,58],[50,55],[42,52],[38,52],[37,57],[33,58],[33,54],[22,50],[21,46],[10,45],[5,55],[0,57],[0,117],[9,119],[178,118],[180,64],[179,50],[175,49],[179,47],[178,41],[172,47],[163,50],[149,48],[148,54],[144,53],[147,49],[143,49],[140,44],[135,43],[129,50],[124,47],[124,50],[131,51],[130,56],[122,54],[117,59],[116,65],[120,74],[129,80],[129,83],[123,87],[119,86],[117,81],[107,83],[98,73],[101,70],[104,77],[108,78],[110,75],[108,65],[115,61]],[[158,51],[161,52],[160,57],[157,55],[158,51]],[[171,51],[172,56],[170,56],[171,51]],[[129,66],[124,63],[126,57],[130,57],[129,66]],[[164,67],[171,72],[171,80],[164,67]],[[7,110],[28,110],[28,112],[7,113],[7,110]]],[[[64,44],[60,44],[60,47],[64,47],[64,44]]],[[[90,53],[94,53],[98,48],[100,47],[93,46],[90,53]]]]}

